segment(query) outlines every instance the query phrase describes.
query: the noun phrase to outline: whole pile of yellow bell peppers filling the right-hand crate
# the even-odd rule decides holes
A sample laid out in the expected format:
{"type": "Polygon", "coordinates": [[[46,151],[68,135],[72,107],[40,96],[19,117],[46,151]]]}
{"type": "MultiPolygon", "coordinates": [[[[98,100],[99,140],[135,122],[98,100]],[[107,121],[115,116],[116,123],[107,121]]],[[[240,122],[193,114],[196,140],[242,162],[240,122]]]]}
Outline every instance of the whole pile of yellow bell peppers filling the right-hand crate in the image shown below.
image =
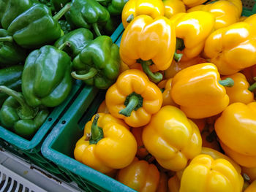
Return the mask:
{"type": "Polygon", "coordinates": [[[129,0],[122,72],[75,159],[136,191],[256,191],[256,15],[241,0],[129,0]]]}

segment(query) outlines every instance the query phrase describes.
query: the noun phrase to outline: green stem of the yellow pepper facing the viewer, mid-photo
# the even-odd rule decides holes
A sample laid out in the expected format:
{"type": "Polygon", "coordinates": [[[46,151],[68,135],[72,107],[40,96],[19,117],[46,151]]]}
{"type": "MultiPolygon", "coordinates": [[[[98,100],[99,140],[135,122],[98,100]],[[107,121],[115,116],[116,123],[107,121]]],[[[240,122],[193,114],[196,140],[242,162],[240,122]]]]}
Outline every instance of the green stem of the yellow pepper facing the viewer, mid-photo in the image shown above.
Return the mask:
{"type": "Polygon", "coordinates": [[[127,96],[127,99],[124,101],[126,106],[123,110],[119,111],[119,114],[126,117],[131,116],[133,110],[138,110],[143,105],[143,97],[139,94],[133,92],[127,96]]]}

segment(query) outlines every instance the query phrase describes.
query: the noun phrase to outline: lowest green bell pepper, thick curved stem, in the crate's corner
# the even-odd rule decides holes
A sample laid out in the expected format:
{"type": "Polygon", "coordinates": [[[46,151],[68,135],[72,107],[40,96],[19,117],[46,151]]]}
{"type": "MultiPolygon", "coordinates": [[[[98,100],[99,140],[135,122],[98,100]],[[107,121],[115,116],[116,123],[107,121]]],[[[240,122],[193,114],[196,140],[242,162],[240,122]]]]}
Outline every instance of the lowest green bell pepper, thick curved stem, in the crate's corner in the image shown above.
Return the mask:
{"type": "Polygon", "coordinates": [[[6,86],[0,86],[0,92],[10,96],[0,110],[1,125],[12,129],[21,137],[29,138],[35,134],[48,117],[48,110],[30,107],[21,93],[6,86]]]}

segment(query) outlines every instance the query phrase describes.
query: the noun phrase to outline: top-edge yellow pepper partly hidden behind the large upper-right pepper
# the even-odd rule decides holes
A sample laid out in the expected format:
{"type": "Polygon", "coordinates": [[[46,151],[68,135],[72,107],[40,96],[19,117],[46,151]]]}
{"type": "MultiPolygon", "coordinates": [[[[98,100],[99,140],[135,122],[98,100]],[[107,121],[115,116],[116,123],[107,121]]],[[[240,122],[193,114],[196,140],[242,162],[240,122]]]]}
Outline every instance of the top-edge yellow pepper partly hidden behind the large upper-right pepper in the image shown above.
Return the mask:
{"type": "Polygon", "coordinates": [[[198,5],[188,9],[187,12],[195,11],[211,12],[215,18],[214,29],[224,28],[237,23],[241,16],[241,0],[218,0],[211,1],[208,4],[198,5]]]}

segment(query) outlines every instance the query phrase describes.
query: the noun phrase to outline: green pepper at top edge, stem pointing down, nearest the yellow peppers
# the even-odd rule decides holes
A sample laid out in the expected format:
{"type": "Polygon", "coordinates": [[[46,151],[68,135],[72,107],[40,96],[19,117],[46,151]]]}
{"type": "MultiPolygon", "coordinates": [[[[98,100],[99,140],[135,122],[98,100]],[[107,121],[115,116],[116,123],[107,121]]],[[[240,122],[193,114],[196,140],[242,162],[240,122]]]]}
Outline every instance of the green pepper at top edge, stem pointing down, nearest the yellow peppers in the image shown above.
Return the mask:
{"type": "Polygon", "coordinates": [[[96,0],[72,0],[72,7],[65,17],[73,27],[89,29],[92,26],[97,36],[101,36],[98,24],[106,23],[110,14],[96,0]]]}

